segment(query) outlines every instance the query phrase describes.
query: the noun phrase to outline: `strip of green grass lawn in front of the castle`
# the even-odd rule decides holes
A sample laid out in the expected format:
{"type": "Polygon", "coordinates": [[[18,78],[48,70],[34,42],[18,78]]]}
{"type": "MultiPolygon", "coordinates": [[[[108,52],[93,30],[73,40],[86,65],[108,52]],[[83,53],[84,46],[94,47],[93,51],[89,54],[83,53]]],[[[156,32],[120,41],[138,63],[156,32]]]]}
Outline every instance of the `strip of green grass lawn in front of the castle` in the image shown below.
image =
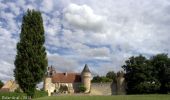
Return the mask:
{"type": "Polygon", "coordinates": [[[34,100],[170,100],[170,95],[51,96],[34,100]]]}

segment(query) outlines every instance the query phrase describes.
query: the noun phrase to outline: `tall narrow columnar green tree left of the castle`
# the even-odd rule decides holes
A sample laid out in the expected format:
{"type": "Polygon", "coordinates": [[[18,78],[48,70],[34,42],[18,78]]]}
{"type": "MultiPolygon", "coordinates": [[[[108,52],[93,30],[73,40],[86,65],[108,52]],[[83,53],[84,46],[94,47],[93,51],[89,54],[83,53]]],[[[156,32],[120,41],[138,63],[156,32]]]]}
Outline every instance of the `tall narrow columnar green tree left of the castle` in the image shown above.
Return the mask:
{"type": "Polygon", "coordinates": [[[39,11],[27,10],[23,16],[17,44],[14,76],[20,88],[33,97],[47,67],[43,19],[39,11]]]}

